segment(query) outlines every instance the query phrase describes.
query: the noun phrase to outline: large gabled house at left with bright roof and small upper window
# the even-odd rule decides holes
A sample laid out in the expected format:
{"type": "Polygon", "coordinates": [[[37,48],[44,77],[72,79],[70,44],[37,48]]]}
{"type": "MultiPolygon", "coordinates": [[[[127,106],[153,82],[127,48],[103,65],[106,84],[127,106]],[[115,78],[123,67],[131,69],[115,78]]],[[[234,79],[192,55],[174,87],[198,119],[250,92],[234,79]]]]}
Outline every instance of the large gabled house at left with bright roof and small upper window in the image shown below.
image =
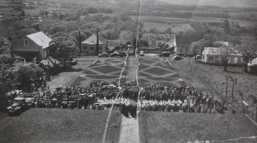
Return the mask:
{"type": "Polygon", "coordinates": [[[51,55],[49,38],[43,32],[26,35],[17,42],[10,44],[10,54],[14,59],[26,61],[41,61],[51,55]]]}

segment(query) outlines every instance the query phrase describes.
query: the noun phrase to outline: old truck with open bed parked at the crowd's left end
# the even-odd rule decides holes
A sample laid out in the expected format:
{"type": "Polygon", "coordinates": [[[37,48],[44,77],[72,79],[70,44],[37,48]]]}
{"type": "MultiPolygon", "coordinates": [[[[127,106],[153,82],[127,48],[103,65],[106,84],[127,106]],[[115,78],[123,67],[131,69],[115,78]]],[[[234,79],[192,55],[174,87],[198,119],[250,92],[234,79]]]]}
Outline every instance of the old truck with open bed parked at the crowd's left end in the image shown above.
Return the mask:
{"type": "Polygon", "coordinates": [[[13,104],[7,107],[8,116],[13,114],[21,115],[22,112],[29,109],[28,103],[36,96],[37,94],[25,93],[19,97],[14,98],[13,104]]]}

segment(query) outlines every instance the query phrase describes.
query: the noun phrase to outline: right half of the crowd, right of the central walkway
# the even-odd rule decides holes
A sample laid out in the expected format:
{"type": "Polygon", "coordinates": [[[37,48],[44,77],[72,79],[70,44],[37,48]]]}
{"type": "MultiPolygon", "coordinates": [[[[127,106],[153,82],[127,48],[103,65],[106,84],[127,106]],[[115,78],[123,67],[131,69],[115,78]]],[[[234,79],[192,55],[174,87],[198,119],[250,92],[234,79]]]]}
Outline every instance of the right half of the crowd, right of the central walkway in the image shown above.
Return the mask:
{"type": "Polygon", "coordinates": [[[184,111],[198,113],[224,113],[225,100],[215,100],[213,95],[193,88],[191,85],[165,86],[141,84],[142,109],[146,111],[184,111]]]}

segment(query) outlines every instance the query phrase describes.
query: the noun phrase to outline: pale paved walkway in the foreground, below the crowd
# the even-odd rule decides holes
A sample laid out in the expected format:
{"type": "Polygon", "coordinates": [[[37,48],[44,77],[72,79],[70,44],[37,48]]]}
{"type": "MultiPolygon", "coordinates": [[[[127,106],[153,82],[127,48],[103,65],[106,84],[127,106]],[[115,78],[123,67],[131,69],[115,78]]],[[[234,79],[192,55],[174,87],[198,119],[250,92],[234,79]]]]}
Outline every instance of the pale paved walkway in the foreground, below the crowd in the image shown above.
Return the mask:
{"type": "Polygon", "coordinates": [[[121,143],[138,143],[139,142],[138,119],[123,117],[121,128],[121,143]]]}

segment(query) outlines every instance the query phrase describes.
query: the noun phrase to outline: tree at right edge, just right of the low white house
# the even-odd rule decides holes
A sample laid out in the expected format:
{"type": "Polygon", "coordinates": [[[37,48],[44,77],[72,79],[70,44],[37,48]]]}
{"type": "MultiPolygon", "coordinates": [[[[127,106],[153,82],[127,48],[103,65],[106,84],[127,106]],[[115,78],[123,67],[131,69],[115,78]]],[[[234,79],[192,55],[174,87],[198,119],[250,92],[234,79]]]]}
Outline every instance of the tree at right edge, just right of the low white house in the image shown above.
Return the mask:
{"type": "Polygon", "coordinates": [[[250,43],[243,43],[241,45],[236,46],[236,50],[243,56],[244,72],[248,72],[248,63],[252,62],[252,60],[257,57],[256,45],[250,43]]]}

